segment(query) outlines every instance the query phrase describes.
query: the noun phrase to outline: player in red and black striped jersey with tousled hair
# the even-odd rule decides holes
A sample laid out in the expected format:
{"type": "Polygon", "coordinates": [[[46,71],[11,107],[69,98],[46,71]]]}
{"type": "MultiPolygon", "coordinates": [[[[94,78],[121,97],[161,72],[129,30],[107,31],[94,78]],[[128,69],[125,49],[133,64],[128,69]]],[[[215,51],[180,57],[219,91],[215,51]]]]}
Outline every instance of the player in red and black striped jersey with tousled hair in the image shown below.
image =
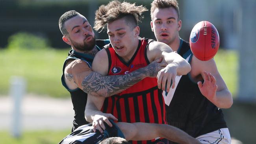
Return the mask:
{"type": "MultiPolygon", "coordinates": [[[[100,30],[107,25],[111,44],[95,55],[92,66],[95,72],[103,76],[130,74],[159,58],[168,64],[160,70],[158,79],[145,78],[109,98],[88,95],[85,117],[97,129],[105,128],[103,122],[109,124],[104,113],[113,114],[119,122],[166,124],[164,100],[162,91],[158,88],[165,87],[166,83],[170,88],[171,81],[175,83],[176,75],[184,75],[190,71],[187,61],[168,45],[139,37],[138,22],[144,11],[147,9],[143,6],[117,0],[100,6],[96,11],[94,28],[100,30]]],[[[101,86],[106,85],[102,81],[101,86]]],[[[133,144],[151,142],[155,142],[155,139],[134,141],[133,144]]]]}

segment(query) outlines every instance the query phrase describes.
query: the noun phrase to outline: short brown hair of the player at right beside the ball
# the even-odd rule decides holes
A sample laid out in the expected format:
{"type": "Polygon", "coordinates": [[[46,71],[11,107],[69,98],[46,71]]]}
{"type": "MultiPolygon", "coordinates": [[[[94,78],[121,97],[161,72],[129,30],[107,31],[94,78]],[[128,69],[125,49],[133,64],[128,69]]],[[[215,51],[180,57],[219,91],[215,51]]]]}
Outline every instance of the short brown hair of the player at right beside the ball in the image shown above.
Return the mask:
{"type": "Polygon", "coordinates": [[[168,8],[168,7],[173,7],[177,14],[178,14],[178,20],[180,19],[180,9],[178,7],[178,2],[177,0],[154,0],[151,3],[151,9],[150,9],[150,16],[151,19],[153,17],[153,13],[156,10],[156,8],[163,9],[163,8],[168,8]]]}

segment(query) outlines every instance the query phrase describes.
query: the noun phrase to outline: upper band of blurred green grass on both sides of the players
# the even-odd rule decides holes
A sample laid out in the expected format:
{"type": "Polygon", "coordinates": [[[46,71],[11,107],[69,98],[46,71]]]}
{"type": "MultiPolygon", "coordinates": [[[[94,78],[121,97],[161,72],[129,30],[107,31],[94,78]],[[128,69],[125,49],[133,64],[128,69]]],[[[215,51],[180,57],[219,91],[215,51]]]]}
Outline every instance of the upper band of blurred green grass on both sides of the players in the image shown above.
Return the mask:
{"type": "MultiPolygon", "coordinates": [[[[0,95],[8,94],[11,76],[27,81],[27,92],[52,97],[68,97],[61,84],[65,50],[0,50],[0,95]]],[[[214,57],[217,68],[233,96],[237,94],[238,57],[236,51],[219,50],[214,57]]]]}

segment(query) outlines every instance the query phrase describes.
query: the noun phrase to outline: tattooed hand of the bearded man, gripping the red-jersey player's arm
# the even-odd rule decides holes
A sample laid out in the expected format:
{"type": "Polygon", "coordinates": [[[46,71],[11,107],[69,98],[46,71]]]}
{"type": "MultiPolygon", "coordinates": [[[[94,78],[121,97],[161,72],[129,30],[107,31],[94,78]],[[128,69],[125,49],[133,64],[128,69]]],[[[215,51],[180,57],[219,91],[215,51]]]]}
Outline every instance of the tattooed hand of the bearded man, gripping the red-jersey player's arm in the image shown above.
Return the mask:
{"type": "Polygon", "coordinates": [[[152,78],[156,78],[156,76],[158,75],[158,72],[165,68],[165,66],[167,66],[167,63],[162,61],[163,58],[160,57],[159,59],[153,61],[152,63],[150,63],[149,65],[145,66],[145,75],[147,77],[152,77],[152,78]]]}

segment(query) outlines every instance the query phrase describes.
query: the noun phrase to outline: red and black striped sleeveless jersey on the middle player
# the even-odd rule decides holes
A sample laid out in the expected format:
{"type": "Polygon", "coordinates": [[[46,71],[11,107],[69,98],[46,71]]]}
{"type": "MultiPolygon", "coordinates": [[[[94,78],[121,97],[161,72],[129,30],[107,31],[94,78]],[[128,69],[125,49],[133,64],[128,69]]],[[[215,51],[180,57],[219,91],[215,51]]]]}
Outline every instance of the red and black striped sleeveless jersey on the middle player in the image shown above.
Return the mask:
{"type": "MultiPolygon", "coordinates": [[[[109,59],[108,75],[128,74],[147,66],[150,63],[147,58],[147,45],[150,41],[139,38],[137,50],[128,63],[115,53],[111,44],[105,47],[109,59]]],[[[165,103],[156,78],[145,78],[121,93],[106,98],[102,112],[113,114],[119,122],[166,124],[165,103]]],[[[150,144],[150,141],[138,143],[150,144]]]]}

